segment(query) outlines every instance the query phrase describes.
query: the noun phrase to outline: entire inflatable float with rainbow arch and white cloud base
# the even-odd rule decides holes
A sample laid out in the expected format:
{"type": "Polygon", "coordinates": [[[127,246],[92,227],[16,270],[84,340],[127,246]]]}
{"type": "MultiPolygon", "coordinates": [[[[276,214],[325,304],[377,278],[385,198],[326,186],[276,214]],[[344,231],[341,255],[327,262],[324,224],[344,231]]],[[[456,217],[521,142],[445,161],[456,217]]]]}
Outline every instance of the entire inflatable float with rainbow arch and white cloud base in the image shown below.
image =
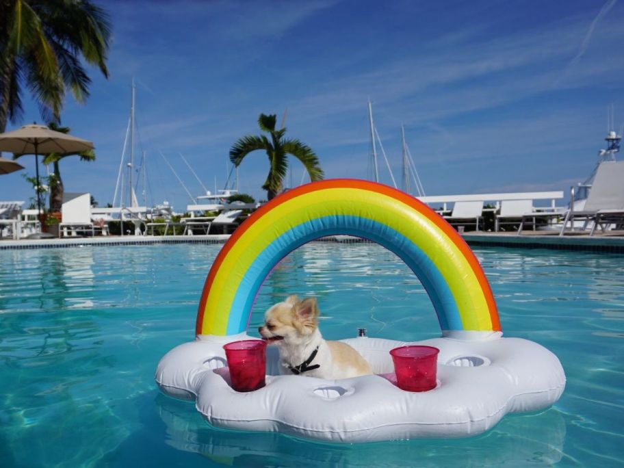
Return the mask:
{"type": "Polygon", "coordinates": [[[155,380],[164,393],[195,400],[216,427],[343,442],[479,434],[506,413],[553,404],[565,386],[554,354],[532,341],[502,337],[478,259],[441,216],[404,192],[353,179],[285,192],[239,226],[207,276],[195,340],[168,352],[155,380]],[[267,385],[251,394],[235,392],[222,345],[252,339],[246,335],[252,307],[275,265],[331,235],[364,237],[400,257],[428,292],[441,337],[345,339],[385,378],[335,381],[279,375],[278,353],[270,346],[267,385]],[[432,391],[411,393],[393,384],[389,350],[414,343],[440,349],[439,385],[432,391]],[[369,417],[356,417],[363,408],[369,417]]]}

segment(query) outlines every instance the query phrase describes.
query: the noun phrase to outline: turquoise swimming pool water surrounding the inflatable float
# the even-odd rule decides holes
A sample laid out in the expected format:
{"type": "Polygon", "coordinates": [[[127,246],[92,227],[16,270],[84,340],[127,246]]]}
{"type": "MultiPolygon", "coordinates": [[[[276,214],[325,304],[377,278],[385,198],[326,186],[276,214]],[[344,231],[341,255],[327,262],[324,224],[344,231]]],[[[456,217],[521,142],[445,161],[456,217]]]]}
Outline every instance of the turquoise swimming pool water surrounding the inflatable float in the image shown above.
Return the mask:
{"type": "MultiPolygon", "coordinates": [[[[562,398],[478,437],[337,445],[211,428],[161,395],[155,367],[194,337],[219,245],[0,251],[1,467],[624,465],[624,255],[479,248],[506,336],[543,344],[562,398]]],[[[440,334],[418,279],[374,244],[317,242],[265,281],[250,324],[314,295],[324,337],[440,334]]]]}

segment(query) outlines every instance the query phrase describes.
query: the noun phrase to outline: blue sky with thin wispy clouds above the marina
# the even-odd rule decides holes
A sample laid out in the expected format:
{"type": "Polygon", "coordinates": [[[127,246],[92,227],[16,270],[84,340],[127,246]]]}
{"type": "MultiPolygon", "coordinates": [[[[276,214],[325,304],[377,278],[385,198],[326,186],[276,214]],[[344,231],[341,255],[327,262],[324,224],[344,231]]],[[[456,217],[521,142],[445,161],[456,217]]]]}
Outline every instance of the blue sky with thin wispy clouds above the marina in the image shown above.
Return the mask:
{"type": "MultiPolygon", "coordinates": [[[[613,129],[624,127],[624,0],[94,3],[112,17],[110,77],[88,67],[90,97],[68,95],[62,124],[94,142],[96,161],[67,157],[61,173],[66,192],[100,206],[114,200],[133,79],[146,204],[180,212],[193,203],[187,190],[224,188],[229,149],[261,133],[261,113],[311,146],[326,178],[370,179],[370,101],[399,187],[403,125],[427,195],[567,193],[595,166],[610,109],[613,129]]],[[[23,101],[23,122],[7,131],[41,122],[23,101]]],[[[34,175],[34,157],[20,162],[0,199],[34,196],[22,176],[34,175]]],[[[290,162],[286,183],[298,185],[302,165],[290,162]]],[[[391,184],[381,154],[378,164],[391,184]]],[[[265,153],[250,153],[239,190],[265,199],[268,169],[265,153]]]]}

